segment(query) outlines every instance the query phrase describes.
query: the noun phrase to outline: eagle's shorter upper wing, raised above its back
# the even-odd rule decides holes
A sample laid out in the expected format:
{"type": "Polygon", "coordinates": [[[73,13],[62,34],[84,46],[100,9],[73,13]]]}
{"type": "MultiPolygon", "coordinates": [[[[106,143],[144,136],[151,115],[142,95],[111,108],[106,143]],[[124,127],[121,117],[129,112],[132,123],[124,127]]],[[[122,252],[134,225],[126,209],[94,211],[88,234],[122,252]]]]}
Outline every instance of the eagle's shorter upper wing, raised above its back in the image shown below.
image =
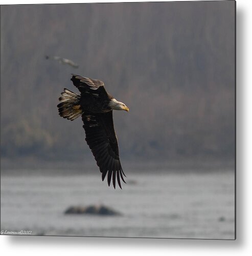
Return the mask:
{"type": "Polygon", "coordinates": [[[101,80],[95,80],[75,74],[72,74],[71,80],[81,93],[96,93],[99,96],[108,97],[108,93],[104,88],[104,83],[101,80]]]}

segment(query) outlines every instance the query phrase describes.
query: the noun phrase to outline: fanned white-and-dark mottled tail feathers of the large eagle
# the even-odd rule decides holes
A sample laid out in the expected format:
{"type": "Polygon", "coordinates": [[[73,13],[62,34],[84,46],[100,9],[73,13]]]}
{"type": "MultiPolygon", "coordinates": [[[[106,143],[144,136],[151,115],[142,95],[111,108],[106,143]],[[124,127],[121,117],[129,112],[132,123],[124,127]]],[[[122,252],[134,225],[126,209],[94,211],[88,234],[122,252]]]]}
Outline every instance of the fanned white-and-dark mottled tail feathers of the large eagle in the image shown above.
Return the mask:
{"type": "Polygon", "coordinates": [[[57,105],[59,115],[71,121],[77,119],[83,112],[80,106],[80,95],[68,89],[64,89],[60,95],[61,103],[57,105]]]}

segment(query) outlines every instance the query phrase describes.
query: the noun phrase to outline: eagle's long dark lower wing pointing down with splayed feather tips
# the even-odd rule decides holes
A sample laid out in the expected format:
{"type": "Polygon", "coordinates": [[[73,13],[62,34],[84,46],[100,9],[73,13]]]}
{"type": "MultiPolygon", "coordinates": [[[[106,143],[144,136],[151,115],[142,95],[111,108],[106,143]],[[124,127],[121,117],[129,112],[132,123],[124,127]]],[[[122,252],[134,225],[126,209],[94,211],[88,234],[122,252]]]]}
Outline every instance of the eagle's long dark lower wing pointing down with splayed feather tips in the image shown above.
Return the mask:
{"type": "Polygon", "coordinates": [[[106,113],[83,113],[83,128],[86,133],[86,142],[91,149],[97,165],[102,172],[102,181],[107,174],[108,186],[112,178],[113,187],[116,188],[116,179],[121,187],[125,183],[125,176],[119,158],[117,136],[114,132],[112,111],[106,113]]]}

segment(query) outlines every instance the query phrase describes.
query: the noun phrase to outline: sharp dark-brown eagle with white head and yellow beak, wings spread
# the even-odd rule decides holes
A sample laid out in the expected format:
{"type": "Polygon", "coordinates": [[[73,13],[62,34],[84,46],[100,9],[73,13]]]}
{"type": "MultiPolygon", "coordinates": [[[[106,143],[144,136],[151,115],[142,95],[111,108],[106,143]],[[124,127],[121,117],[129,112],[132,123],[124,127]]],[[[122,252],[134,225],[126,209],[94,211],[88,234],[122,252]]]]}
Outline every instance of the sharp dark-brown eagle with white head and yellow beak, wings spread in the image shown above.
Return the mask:
{"type": "Polygon", "coordinates": [[[107,174],[108,186],[112,178],[113,187],[116,188],[117,179],[119,187],[122,188],[120,178],[126,183],[123,178],[125,174],[120,162],[112,111],[129,111],[129,108],[107,93],[100,80],[72,74],[71,81],[80,91],[80,95],[64,89],[59,98],[61,103],[57,105],[59,115],[71,121],[81,115],[85,140],[100,168],[102,181],[107,174]]]}

